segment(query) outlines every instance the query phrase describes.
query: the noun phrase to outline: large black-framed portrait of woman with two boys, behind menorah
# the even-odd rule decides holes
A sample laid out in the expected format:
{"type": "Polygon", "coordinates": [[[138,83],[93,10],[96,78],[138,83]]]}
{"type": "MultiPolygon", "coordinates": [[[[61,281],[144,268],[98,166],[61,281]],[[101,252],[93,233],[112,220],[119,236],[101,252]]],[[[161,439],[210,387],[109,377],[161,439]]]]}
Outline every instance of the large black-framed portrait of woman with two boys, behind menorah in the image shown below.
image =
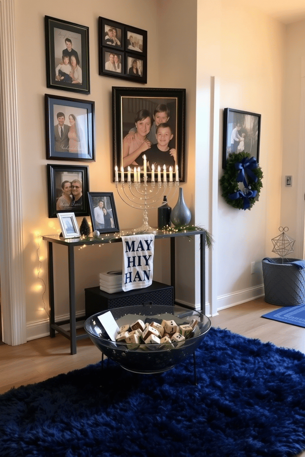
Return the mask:
{"type": "MultiPolygon", "coordinates": [[[[128,166],[133,171],[140,167],[140,179],[144,180],[143,156],[147,160],[147,181],[151,180],[151,168],[166,165],[172,167],[175,181],[176,165],[180,182],[185,179],[185,89],[143,89],[112,87],[113,167],[128,179],[128,166]],[[162,138],[161,138],[162,137],[162,138]],[[157,139],[158,138],[158,139],[157,139]]],[[[133,180],[133,173],[131,173],[133,180]]]]}

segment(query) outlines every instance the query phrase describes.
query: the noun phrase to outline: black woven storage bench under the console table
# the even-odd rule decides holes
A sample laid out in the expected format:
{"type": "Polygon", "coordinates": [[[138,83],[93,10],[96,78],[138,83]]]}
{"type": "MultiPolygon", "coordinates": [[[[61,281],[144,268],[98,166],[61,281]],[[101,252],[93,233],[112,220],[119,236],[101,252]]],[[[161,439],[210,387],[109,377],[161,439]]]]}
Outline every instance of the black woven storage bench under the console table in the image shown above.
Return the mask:
{"type": "Polygon", "coordinates": [[[173,306],[174,287],[153,281],[149,287],[128,292],[107,293],[99,286],[85,289],[86,319],[105,309],[144,304],[173,306]]]}

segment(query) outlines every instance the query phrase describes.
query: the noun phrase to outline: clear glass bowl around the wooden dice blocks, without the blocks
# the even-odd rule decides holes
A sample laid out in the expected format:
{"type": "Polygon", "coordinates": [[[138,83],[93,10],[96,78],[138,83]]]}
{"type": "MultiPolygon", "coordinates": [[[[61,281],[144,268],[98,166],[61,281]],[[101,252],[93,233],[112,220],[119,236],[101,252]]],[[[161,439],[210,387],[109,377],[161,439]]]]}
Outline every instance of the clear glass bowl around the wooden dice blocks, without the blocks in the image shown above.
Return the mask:
{"type": "Polygon", "coordinates": [[[174,311],[172,306],[166,305],[136,305],[107,309],[89,317],[84,324],[91,341],[105,356],[117,362],[125,370],[135,373],[158,373],[170,370],[193,354],[210,327],[211,322],[204,314],[191,310],[174,311]],[[172,347],[170,343],[127,345],[125,342],[115,342],[109,339],[98,319],[98,316],[108,311],[111,311],[118,327],[125,324],[131,325],[138,319],[141,319],[144,324],[151,321],[161,324],[163,319],[173,319],[177,325],[189,324],[192,319],[196,319],[198,324],[194,329],[194,335],[179,347],[172,347]]]}

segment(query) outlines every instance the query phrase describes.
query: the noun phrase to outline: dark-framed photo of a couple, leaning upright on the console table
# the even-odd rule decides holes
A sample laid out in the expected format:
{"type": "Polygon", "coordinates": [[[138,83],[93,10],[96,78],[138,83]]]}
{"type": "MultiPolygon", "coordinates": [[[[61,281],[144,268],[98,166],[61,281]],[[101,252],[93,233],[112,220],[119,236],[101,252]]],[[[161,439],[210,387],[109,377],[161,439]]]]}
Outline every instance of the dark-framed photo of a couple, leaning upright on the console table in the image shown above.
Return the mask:
{"type": "Polygon", "coordinates": [[[92,231],[98,230],[100,234],[120,231],[118,227],[118,216],[114,203],[113,192],[88,192],[88,202],[90,208],[92,231]],[[103,205],[99,205],[100,201],[103,202],[103,205]],[[104,208],[107,211],[107,224],[106,220],[104,219],[104,225],[107,225],[107,227],[102,227],[103,224],[99,223],[98,220],[96,220],[96,218],[98,218],[99,206],[101,210],[104,208]]]}

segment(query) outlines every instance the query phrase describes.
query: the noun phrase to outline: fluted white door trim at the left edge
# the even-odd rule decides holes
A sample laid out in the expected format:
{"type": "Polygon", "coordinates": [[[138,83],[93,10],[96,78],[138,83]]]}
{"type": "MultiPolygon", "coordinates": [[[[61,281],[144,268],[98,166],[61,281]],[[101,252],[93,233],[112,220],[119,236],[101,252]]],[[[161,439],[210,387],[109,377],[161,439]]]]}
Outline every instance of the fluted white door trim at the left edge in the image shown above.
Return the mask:
{"type": "Polygon", "coordinates": [[[15,3],[0,0],[0,283],[3,341],[26,343],[15,3]]]}

